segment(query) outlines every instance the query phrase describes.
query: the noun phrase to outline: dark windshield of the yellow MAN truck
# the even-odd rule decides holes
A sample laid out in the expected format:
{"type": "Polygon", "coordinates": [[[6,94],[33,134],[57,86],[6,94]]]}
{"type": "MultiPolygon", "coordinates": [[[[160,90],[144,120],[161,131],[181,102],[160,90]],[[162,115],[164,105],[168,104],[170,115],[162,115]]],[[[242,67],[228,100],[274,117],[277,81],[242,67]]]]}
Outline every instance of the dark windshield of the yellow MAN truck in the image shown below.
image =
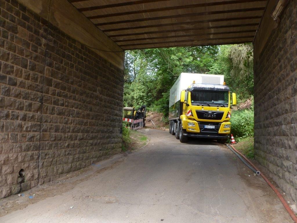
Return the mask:
{"type": "Polygon", "coordinates": [[[214,106],[228,105],[229,102],[228,91],[209,91],[209,90],[193,90],[191,92],[191,103],[205,103],[214,106]]]}

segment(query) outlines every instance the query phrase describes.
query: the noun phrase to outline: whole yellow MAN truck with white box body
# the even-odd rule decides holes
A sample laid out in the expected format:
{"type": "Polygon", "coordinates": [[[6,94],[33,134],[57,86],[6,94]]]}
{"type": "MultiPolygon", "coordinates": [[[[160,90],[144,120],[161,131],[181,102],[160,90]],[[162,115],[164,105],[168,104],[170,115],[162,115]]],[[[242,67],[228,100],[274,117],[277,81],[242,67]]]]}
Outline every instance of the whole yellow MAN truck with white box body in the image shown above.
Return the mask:
{"type": "Polygon", "coordinates": [[[181,73],[170,89],[169,133],[180,142],[194,137],[225,143],[233,105],[236,94],[230,92],[223,75],[181,73]]]}

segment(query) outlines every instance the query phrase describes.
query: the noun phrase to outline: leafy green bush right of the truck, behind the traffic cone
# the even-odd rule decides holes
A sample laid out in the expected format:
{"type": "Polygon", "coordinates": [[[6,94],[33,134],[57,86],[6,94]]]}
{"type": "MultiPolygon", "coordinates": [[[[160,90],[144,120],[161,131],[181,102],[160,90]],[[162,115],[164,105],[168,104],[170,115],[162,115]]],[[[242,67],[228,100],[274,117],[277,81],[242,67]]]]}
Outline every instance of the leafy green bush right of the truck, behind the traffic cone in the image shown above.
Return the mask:
{"type": "Polygon", "coordinates": [[[231,115],[231,133],[236,138],[254,136],[254,111],[250,109],[238,110],[231,115]]]}

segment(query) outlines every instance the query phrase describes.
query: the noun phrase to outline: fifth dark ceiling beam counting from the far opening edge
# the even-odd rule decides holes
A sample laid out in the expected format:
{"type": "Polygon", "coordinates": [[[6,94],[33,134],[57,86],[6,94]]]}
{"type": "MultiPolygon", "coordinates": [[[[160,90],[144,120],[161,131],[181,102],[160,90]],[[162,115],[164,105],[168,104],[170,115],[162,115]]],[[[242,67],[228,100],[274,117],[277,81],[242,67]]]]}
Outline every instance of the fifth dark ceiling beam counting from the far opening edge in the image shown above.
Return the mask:
{"type": "Polygon", "coordinates": [[[222,10],[222,11],[196,12],[196,13],[187,13],[187,14],[178,14],[178,15],[165,15],[165,16],[157,16],[157,17],[150,17],[150,18],[116,21],[113,24],[143,22],[143,21],[161,20],[161,19],[168,19],[168,18],[183,18],[183,17],[199,16],[199,15],[225,14],[225,13],[232,13],[232,12],[263,11],[264,9],[265,7],[257,7],[257,8],[233,9],[233,10],[222,10]]]}

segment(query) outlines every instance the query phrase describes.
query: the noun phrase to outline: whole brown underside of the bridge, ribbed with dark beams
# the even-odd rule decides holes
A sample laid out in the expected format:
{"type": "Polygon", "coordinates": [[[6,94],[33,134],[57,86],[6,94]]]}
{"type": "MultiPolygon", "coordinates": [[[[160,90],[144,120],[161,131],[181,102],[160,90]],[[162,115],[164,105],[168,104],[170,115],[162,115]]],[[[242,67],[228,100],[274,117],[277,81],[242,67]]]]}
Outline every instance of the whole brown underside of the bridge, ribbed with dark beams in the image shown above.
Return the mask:
{"type": "Polygon", "coordinates": [[[68,0],[122,49],[251,42],[267,0],[68,0]]]}

